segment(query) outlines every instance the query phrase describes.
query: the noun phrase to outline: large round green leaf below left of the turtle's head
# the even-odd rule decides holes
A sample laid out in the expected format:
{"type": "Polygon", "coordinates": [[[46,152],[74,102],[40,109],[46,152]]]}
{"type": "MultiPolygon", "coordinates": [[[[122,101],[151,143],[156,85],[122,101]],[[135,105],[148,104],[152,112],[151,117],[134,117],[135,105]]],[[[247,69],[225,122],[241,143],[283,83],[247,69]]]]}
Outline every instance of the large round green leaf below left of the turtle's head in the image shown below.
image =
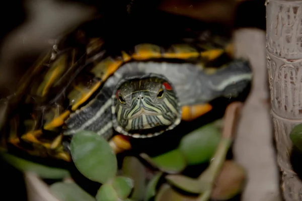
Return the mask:
{"type": "Polygon", "coordinates": [[[109,143],[94,132],[81,131],[70,143],[72,160],[90,180],[106,183],[117,173],[117,159],[109,143]]]}

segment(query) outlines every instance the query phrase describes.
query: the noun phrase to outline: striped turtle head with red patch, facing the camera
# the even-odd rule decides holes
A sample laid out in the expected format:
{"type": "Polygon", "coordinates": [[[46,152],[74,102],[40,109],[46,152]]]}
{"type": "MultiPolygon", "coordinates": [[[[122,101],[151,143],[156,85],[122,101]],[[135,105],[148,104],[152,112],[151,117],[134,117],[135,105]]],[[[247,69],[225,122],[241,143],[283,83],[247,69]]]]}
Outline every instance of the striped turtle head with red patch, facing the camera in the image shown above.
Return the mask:
{"type": "Polygon", "coordinates": [[[153,137],[180,123],[181,107],[173,85],[163,76],[131,77],[115,91],[115,130],[135,138],[153,137]]]}

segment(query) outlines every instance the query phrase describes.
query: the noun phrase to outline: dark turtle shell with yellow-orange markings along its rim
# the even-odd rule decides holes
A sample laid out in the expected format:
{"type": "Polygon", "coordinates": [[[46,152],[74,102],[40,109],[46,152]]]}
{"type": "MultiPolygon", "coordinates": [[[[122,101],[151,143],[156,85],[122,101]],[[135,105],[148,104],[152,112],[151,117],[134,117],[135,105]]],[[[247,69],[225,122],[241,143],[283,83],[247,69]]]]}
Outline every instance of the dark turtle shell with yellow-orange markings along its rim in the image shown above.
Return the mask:
{"type": "MultiPolygon", "coordinates": [[[[20,80],[16,95],[10,99],[16,107],[2,131],[4,146],[13,145],[31,155],[70,161],[62,145],[64,135],[72,133],[70,128],[72,131],[73,127],[83,125],[83,119],[93,118],[83,110],[92,105],[108,78],[121,66],[150,61],[165,61],[172,66],[190,63],[204,74],[213,75],[217,69],[225,68],[224,64],[232,61],[233,56],[232,43],[219,36],[184,39],[169,46],[140,43],[116,53],[108,51],[101,38],[86,39],[79,33],[81,40],[76,44],[66,47],[66,41],[62,41],[54,45],[20,80]],[[66,128],[69,133],[63,135],[66,128]]],[[[245,61],[243,64],[246,65],[245,61]]],[[[103,136],[109,139],[112,133],[103,136]]]]}

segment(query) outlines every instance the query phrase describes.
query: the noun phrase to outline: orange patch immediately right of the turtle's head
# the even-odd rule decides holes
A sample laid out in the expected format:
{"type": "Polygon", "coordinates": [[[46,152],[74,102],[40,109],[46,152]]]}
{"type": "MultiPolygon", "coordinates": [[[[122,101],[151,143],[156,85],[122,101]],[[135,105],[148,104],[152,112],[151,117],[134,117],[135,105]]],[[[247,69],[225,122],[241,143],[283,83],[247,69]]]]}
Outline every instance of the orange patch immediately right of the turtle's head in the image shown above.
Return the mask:
{"type": "Polygon", "coordinates": [[[194,120],[207,112],[212,110],[212,106],[209,104],[194,105],[194,106],[183,106],[182,107],[182,120],[191,121],[194,120]]]}

